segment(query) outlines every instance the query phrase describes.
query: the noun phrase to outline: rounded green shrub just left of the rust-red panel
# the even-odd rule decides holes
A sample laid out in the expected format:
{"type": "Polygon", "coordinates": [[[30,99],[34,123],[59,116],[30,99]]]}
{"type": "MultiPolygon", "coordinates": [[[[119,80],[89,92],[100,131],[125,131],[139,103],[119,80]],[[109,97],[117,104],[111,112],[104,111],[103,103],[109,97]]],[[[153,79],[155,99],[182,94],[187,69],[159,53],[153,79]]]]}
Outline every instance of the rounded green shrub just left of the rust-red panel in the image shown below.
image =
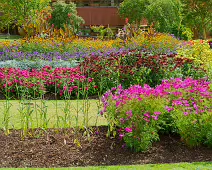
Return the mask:
{"type": "Polygon", "coordinates": [[[65,25],[67,25],[69,29],[76,33],[82,23],[84,23],[84,20],[77,15],[74,3],[56,3],[54,5],[50,24],[54,24],[55,28],[65,30],[65,25]]]}

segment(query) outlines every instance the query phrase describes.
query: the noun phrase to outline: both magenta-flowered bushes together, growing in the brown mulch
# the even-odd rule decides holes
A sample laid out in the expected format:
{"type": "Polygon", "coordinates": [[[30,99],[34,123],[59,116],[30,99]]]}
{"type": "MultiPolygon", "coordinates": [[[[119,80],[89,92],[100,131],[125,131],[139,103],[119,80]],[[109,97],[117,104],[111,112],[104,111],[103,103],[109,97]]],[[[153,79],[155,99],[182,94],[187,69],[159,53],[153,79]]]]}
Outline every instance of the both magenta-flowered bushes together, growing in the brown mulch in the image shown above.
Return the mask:
{"type": "Polygon", "coordinates": [[[176,128],[189,146],[212,146],[210,82],[176,78],[164,80],[155,88],[135,85],[123,90],[119,86],[105,93],[102,102],[101,114],[110,130],[117,130],[120,139],[136,151],[148,150],[167,124],[176,128]]]}

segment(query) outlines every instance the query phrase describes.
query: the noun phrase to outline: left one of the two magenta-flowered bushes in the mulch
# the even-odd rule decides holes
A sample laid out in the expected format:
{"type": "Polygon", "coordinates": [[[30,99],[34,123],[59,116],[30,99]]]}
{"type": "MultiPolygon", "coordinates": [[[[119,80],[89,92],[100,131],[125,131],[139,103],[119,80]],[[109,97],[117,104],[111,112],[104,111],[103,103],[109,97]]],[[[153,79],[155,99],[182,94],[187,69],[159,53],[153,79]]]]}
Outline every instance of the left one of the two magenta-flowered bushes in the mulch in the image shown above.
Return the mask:
{"type": "Polygon", "coordinates": [[[120,139],[136,151],[147,151],[153,141],[159,140],[159,125],[165,112],[165,100],[148,85],[122,86],[105,93],[102,97],[105,115],[110,130],[116,130],[120,139]]]}

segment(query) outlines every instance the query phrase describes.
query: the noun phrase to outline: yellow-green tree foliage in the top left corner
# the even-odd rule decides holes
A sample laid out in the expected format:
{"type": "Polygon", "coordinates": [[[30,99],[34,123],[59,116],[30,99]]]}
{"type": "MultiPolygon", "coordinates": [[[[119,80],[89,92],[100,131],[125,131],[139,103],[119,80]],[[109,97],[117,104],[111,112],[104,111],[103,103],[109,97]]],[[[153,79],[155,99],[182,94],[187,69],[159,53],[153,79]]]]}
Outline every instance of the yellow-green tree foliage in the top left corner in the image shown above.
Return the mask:
{"type": "Polygon", "coordinates": [[[0,27],[6,27],[11,23],[20,26],[28,17],[36,18],[36,13],[49,5],[51,0],[0,0],[0,27]]]}

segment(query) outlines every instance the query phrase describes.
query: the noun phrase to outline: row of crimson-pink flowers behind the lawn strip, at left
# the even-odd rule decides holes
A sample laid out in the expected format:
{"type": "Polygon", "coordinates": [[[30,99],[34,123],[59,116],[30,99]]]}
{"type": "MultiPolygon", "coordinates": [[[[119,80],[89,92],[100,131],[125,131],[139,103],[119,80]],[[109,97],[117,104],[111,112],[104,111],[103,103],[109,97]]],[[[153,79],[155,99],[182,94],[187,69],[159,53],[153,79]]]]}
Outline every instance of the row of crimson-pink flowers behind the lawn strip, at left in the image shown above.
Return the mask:
{"type": "Polygon", "coordinates": [[[64,98],[67,94],[76,95],[78,88],[88,90],[91,82],[79,68],[46,66],[40,71],[0,68],[0,88],[10,98],[35,98],[45,93],[56,93],[64,98]]]}

